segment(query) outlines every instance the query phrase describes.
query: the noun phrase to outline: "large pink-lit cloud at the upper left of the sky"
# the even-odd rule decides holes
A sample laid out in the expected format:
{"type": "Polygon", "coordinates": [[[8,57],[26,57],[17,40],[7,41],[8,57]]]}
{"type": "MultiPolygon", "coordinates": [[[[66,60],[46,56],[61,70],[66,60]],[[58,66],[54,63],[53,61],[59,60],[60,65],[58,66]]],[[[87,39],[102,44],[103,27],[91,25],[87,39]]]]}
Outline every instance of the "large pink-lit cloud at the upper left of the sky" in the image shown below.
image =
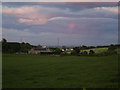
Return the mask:
{"type": "Polygon", "coordinates": [[[47,15],[41,14],[37,8],[22,7],[16,9],[5,9],[3,13],[10,14],[18,18],[19,23],[27,25],[43,25],[47,23],[47,15]]]}

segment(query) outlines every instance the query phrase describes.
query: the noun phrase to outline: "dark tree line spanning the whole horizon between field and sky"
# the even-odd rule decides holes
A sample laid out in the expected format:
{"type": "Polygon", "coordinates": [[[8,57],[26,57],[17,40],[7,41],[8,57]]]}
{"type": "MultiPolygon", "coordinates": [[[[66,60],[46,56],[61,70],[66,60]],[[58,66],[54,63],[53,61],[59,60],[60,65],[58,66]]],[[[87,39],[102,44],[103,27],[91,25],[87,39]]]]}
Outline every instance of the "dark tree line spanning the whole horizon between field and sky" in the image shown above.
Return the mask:
{"type": "MultiPolygon", "coordinates": [[[[0,42],[2,44],[2,52],[3,53],[28,53],[28,51],[31,48],[37,48],[37,47],[41,47],[40,45],[38,46],[34,46],[31,45],[29,43],[19,43],[19,42],[7,42],[6,39],[2,39],[2,41],[0,42]]],[[[120,45],[109,45],[109,46],[78,46],[78,47],[73,47],[73,50],[71,51],[70,55],[96,55],[95,51],[92,50],[93,48],[103,48],[103,47],[107,47],[108,50],[106,52],[100,53],[100,55],[113,55],[113,54],[117,54],[117,48],[120,48],[120,45]],[[89,50],[89,52],[87,51],[83,51],[86,49],[91,49],[89,50]]],[[[67,46],[62,46],[62,49],[66,50],[69,49],[69,47],[67,46]]],[[[50,48],[53,52],[51,52],[51,54],[58,54],[58,55],[67,55],[67,53],[65,53],[64,51],[61,50],[61,48],[50,48]]],[[[45,54],[45,53],[43,53],[45,54]]],[[[48,53],[49,54],[49,53],[48,53]]]]}

